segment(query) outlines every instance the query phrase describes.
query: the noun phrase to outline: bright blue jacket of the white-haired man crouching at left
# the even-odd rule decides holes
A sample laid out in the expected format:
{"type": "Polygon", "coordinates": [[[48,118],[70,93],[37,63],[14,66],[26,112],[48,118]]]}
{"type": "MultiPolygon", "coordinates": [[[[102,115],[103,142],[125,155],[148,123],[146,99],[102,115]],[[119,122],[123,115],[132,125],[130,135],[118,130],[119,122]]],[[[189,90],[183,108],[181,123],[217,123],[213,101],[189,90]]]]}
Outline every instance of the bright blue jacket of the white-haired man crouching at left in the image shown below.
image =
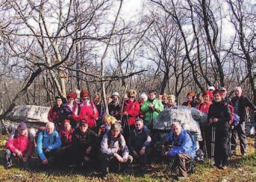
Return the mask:
{"type": "Polygon", "coordinates": [[[54,150],[55,148],[60,148],[61,140],[57,131],[48,134],[47,131],[41,131],[37,137],[37,154],[41,160],[46,159],[46,155],[43,152],[46,149],[54,150]]]}

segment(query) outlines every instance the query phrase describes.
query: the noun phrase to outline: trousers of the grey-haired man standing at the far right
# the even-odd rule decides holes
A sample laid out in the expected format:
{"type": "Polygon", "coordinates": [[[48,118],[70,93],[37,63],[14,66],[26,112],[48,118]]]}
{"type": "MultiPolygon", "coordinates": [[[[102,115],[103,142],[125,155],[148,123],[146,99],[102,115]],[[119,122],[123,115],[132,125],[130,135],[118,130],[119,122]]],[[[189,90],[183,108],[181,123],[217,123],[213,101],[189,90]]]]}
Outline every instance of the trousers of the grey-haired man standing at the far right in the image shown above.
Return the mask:
{"type": "Polygon", "coordinates": [[[231,131],[231,150],[236,151],[237,135],[240,141],[241,154],[246,153],[246,122],[242,122],[231,131]]]}

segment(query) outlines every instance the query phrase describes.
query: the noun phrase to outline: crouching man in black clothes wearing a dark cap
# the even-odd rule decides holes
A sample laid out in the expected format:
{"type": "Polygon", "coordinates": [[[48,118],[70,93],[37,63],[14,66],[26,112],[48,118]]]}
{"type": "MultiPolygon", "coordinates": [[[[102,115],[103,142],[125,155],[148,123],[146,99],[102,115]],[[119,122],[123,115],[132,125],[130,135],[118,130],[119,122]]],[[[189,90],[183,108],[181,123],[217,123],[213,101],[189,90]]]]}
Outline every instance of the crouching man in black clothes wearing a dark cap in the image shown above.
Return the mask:
{"type": "Polygon", "coordinates": [[[82,119],[72,137],[73,163],[77,167],[96,160],[98,137],[88,128],[87,120],[82,119]]]}

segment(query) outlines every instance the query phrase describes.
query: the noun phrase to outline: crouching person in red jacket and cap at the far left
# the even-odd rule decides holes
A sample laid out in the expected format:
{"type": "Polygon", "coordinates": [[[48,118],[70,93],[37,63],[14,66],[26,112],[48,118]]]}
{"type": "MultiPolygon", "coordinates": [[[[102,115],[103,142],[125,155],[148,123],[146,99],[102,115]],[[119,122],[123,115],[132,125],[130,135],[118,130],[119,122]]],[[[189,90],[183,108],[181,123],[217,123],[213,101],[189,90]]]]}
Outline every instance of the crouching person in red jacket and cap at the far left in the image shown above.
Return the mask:
{"type": "Polygon", "coordinates": [[[5,151],[6,167],[12,166],[12,157],[18,157],[23,166],[28,166],[28,159],[34,151],[34,136],[28,132],[25,122],[19,123],[18,128],[10,134],[5,151]]]}

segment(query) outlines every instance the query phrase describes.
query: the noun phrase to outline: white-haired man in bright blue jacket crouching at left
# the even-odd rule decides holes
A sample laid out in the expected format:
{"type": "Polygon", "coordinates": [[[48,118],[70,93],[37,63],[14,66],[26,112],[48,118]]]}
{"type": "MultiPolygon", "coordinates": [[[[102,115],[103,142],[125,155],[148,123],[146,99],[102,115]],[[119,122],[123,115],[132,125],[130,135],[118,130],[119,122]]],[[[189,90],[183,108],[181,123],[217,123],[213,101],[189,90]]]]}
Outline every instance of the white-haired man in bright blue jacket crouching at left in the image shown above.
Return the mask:
{"type": "Polygon", "coordinates": [[[56,156],[57,148],[60,148],[60,145],[60,136],[57,131],[54,131],[54,123],[48,122],[46,130],[41,131],[37,137],[37,154],[43,165],[47,165],[49,159],[56,156]]]}

